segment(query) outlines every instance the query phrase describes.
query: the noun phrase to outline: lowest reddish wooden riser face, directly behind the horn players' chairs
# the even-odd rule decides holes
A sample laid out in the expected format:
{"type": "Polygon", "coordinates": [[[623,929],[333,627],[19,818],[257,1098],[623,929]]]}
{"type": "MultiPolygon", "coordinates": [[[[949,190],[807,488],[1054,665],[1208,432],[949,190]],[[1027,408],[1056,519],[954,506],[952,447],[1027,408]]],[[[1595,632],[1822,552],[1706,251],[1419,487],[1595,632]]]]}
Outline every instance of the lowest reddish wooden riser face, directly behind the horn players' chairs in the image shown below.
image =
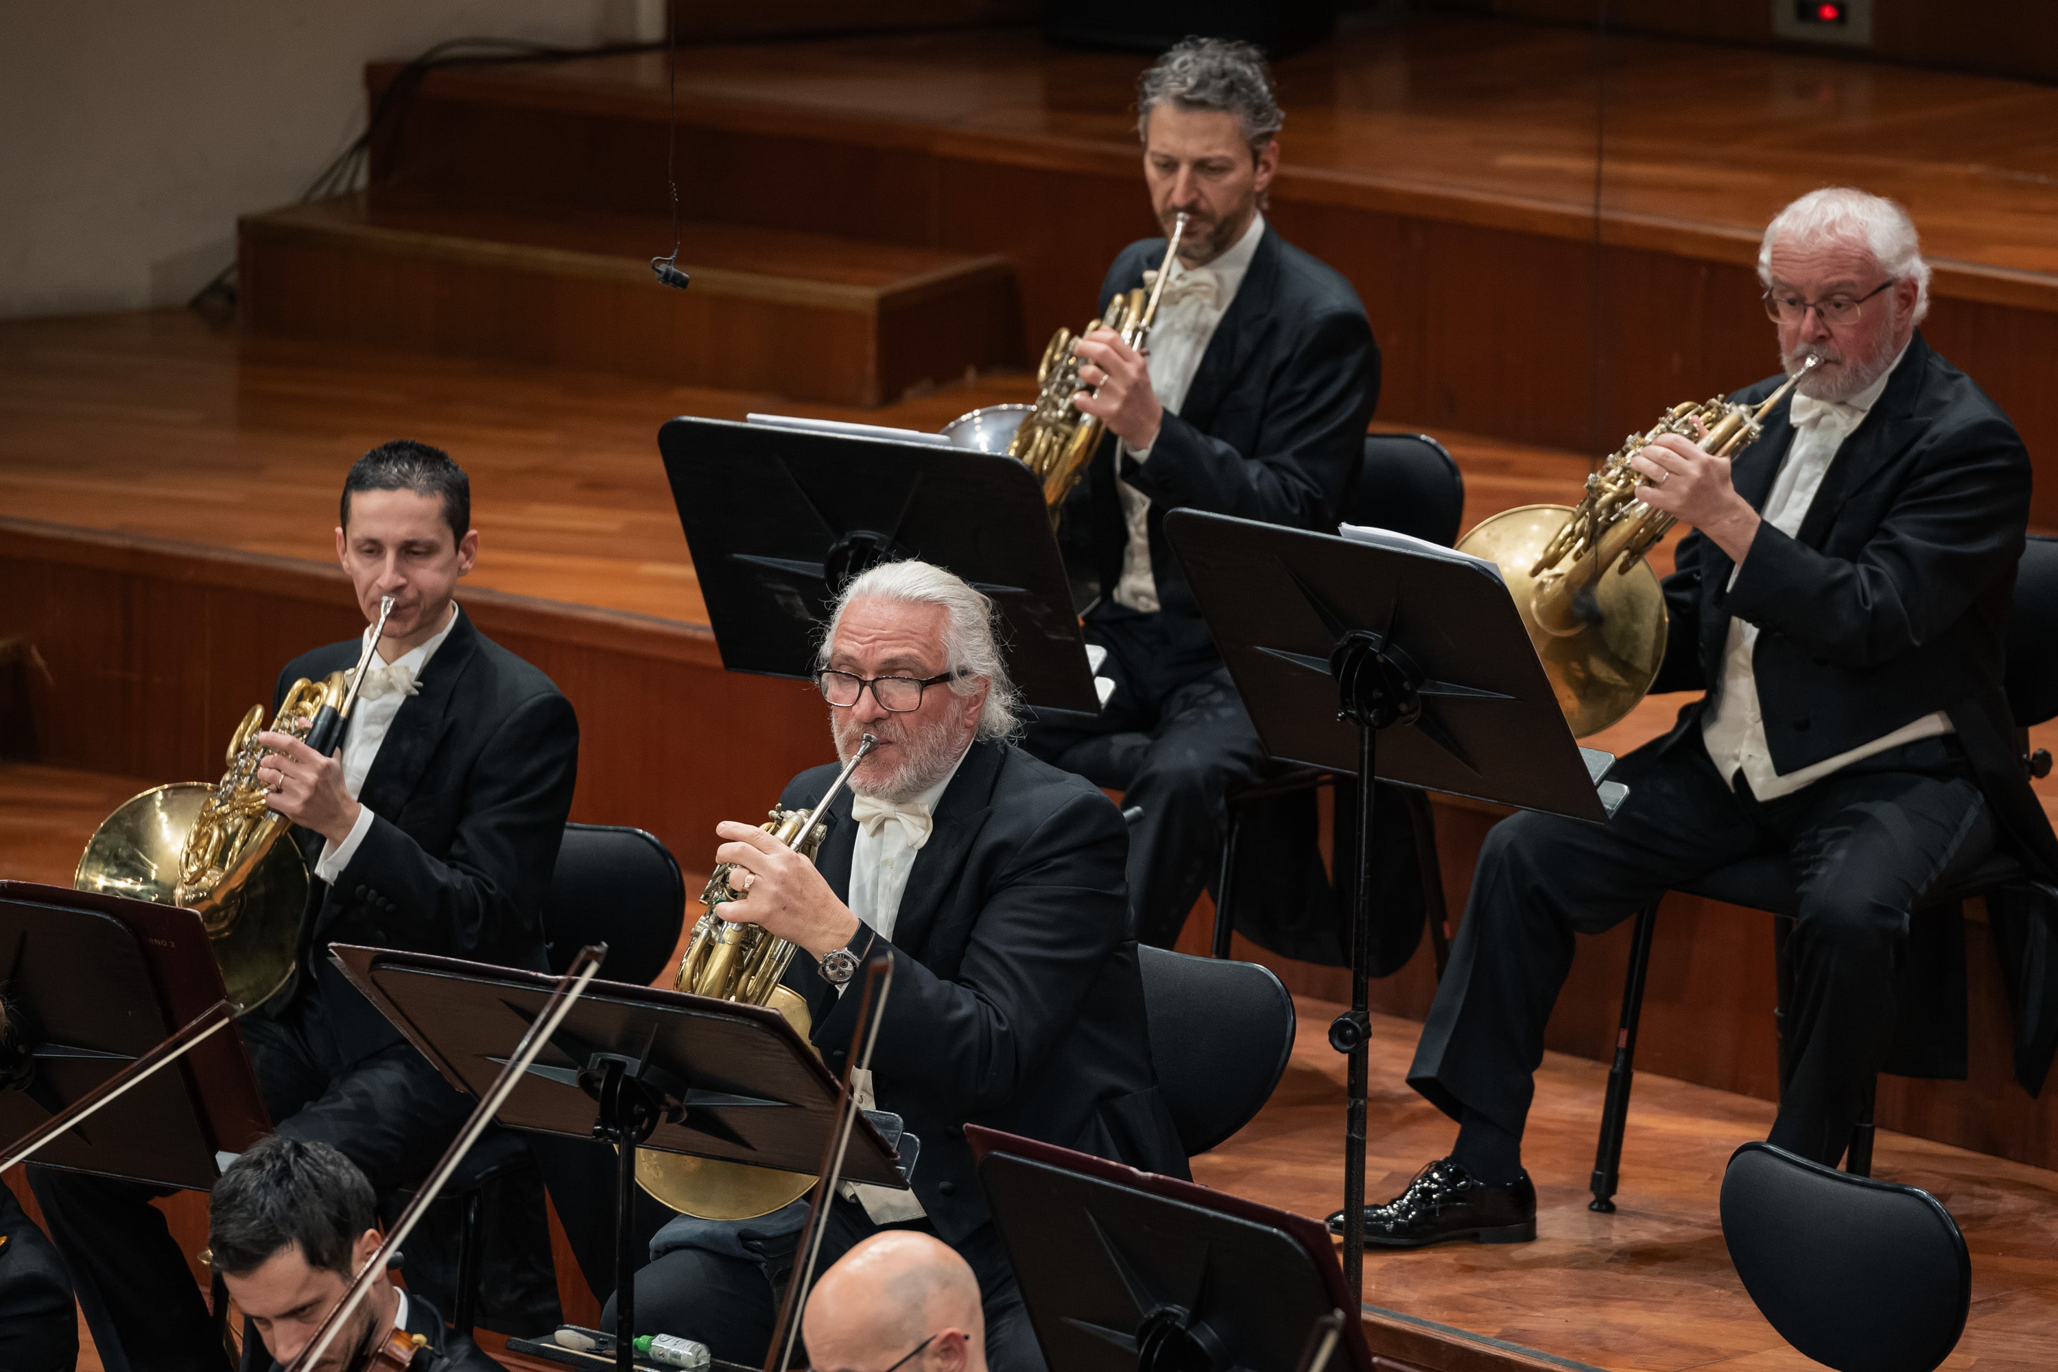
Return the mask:
{"type": "MultiPolygon", "coordinates": [[[[214,778],[241,712],[270,699],[282,662],[354,634],[342,574],[313,564],[0,520],[0,638],[27,638],[56,689],[35,697],[43,761],[156,780],[214,778]]],[[[640,825],[687,870],[704,868],[720,819],[766,808],[794,771],[829,755],[821,706],[790,681],[722,673],[708,636],[492,592],[467,613],[529,658],[578,710],[572,817],[640,825]]],[[[1453,917],[1498,813],[1439,802],[1453,917]]],[[[1206,946],[1206,901],[1187,948],[1206,946]]],[[[1241,950],[1249,954],[1247,948],[1241,950]]],[[[1299,994],[1342,1000],[1340,969],[1264,956],[1299,994]]],[[[1628,926],[1583,938],[1548,1043],[1605,1061],[1613,1051],[1628,926]]],[[[2058,1166],[2058,1090],[2029,1100],[2009,1082],[2007,996],[1986,928],[1967,922],[1970,1082],[1883,1080],[1879,1121],[2037,1166],[2058,1166]]],[[[1373,1008],[1420,1018],[1434,994],[1428,940],[1375,983],[1373,1008]]],[[[1638,1066],[1776,1096],[1768,915],[1673,897],[1659,924],[1638,1066]]],[[[1599,1113],[1599,1100],[1595,1100],[1599,1113]]]]}

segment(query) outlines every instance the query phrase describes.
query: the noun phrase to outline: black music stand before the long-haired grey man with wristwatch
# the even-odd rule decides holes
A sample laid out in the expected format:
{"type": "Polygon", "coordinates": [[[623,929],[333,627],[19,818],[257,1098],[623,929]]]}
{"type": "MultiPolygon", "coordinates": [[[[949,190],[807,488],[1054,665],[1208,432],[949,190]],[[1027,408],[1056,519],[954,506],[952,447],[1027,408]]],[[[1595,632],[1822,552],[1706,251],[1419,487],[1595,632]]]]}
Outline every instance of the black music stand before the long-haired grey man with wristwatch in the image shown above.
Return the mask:
{"type": "MultiPolygon", "coordinates": [[[[512,1045],[556,987],[545,973],[426,952],[329,944],[344,975],[459,1090],[492,1088],[512,1045]]],[[[844,1100],[842,1084],[778,1010],[595,981],[529,1068],[500,1123],[603,1138],[615,1166],[615,1356],[634,1349],[636,1154],[749,1162],[813,1175],[844,1100]]],[[[844,1177],[906,1189],[891,1144],[858,1115],[844,1177]]]]}

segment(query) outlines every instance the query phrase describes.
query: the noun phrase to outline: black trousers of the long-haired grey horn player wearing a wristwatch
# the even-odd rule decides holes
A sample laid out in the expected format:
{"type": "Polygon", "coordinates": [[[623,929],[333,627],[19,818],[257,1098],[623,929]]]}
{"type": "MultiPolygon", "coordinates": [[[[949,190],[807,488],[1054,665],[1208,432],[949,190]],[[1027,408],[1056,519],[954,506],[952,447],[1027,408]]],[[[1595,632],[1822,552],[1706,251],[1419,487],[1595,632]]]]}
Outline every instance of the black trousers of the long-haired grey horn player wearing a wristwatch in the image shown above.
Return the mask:
{"type": "MultiPolygon", "coordinates": [[[[838,1199],[821,1240],[815,1279],[836,1259],[881,1228],[934,1234],[928,1220],[873,1224],[856,1201],[838,1199]]],[[[753,1257],[679,1249],[636,1273],[636,1333],[671,1333],[700,1339],[726,1362],[764,1366],[778,1321],[780,1298],[792,1275],[796,1236],[749,1244],[753,1257]]],[[[980,1279],[986,1312],[986,1366],[994,1372],[1043,1372],[1043,1349],[1029,1327],[1015,1267],[992,1224],[951,1244],[980,1279]]],[[[615,1327],[615,1302],[601,1312],[601,1329],[615,1327]]],[[[807,1366],[799,1358],[794,1366],[807,1366]]]]}

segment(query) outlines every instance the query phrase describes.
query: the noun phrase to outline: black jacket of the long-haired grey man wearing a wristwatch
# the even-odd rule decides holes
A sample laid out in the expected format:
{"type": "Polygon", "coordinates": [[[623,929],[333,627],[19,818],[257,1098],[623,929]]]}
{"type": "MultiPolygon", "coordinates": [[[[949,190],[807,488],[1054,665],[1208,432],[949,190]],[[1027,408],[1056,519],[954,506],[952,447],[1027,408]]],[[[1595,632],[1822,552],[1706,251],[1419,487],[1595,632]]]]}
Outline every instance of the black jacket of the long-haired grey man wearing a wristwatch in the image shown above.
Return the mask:
{"type": "MultiPolygon", "coordinates": [[[[836,771],[803,771],[780,804],[815,804],[836,771]]],[[[848,790],[827,823],[817,862],[848,899],[848,790]]],[[[1013,745],[971,745],[936,802],[893,938],[875,944],[893,956],[893,994],[873,1086],[879,1109],[922,1140],[914,1191],[947,1242],[990,1218],[965,1123],[1187,1177],[1150,1070],[1126,860],[1113,802],[1013,745]]],[[[838,998],[807,956],[786,979],[807,996],[815,1045],[842,1072],[860,998],[838,998]]]]}

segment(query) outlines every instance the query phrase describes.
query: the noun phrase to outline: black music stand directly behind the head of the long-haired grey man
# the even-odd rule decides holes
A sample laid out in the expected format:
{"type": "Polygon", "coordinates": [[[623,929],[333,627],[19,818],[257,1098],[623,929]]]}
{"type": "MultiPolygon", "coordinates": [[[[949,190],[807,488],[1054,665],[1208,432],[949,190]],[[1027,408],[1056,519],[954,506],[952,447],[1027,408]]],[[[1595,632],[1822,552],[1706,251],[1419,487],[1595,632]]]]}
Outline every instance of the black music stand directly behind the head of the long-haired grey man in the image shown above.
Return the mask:
{"type": "Polygon", "coordinates": [[[1013,457],[696,418],[659,448],[729,671],[811,677],[844,584],[920,557],[994,599],[1031,706],[1099,712],[1043,488],[1013,457]]]}

